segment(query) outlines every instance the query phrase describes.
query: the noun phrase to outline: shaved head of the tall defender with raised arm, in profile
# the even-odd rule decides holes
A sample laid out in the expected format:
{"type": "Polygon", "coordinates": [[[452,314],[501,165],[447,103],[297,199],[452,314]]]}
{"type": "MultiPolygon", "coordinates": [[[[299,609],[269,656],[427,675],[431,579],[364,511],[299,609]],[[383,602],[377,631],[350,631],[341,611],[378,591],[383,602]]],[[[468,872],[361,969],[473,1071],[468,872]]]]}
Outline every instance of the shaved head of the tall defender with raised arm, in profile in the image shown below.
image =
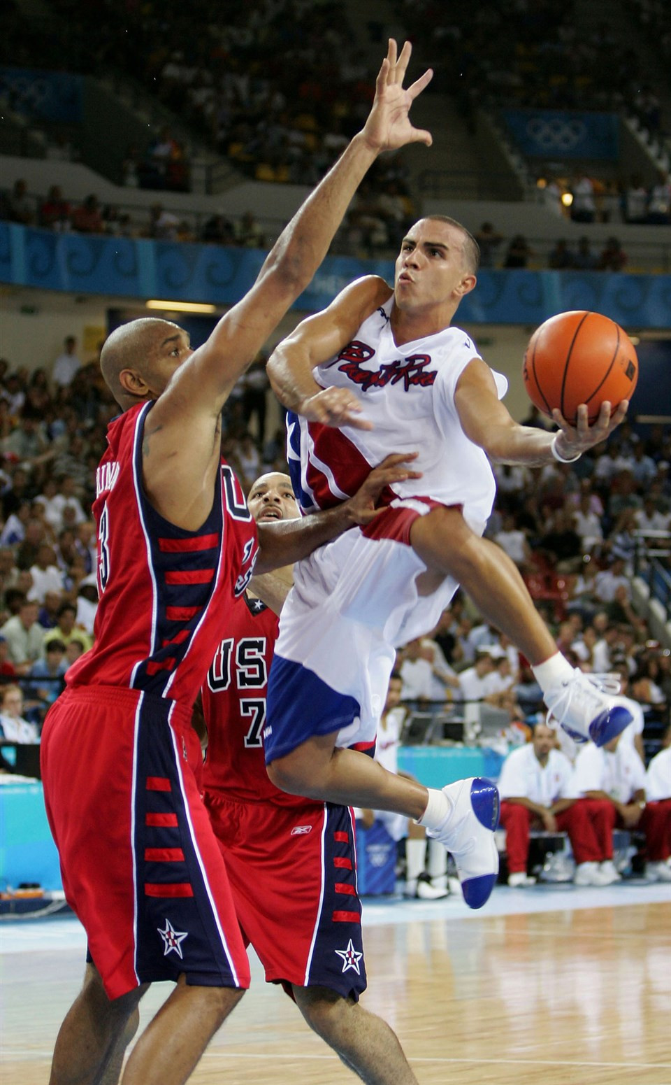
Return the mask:
{"type": "Polygon", "coordinates": [[[120,324],[105,341],[100,353],[100,368],[105,384],[124,410],[132,407],[142,396],[133,396],[122,385],[120,374],[132,370],[142,378],[152,372],[157,347],[170,335],[180,332],[178,324],[159,317],[140,317],[120,324]]]}

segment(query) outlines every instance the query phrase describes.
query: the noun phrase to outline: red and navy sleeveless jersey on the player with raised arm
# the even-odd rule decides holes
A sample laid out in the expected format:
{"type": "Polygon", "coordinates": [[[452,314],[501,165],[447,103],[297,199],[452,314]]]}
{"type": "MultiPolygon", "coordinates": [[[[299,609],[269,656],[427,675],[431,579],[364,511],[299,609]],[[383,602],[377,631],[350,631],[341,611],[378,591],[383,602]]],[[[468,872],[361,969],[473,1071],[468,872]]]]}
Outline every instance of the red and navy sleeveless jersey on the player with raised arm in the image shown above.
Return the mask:
{"type": "Polygon", "coordinates": [[[191,706],[258,551],[256,524],[221,461],[210,513],[197,532],[169,523],[142,485],[142,436],[152,404],[114,419],[96,473],[95,642],[69,686],[144,690],[191,706]]]}

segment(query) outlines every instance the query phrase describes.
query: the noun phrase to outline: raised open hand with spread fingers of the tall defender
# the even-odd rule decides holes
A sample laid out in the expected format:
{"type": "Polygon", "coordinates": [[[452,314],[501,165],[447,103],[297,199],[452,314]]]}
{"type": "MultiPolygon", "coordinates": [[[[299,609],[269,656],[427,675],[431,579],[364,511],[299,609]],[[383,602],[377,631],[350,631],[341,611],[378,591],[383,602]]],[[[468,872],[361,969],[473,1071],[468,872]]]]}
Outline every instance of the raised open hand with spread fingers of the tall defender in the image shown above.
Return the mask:
{"type": "Polygon", "coordinates": [[[405,143],[433,143],[431,133],[414,128],[410,122],[410,106],[433,78],[428,68],[423,76],[403,90],[405,69],[412,46],[407,41],[397,58],[397,44],[389,38],[389,49],[382,62],[375,81],[375,101],[363,126],[363,136],[375,151],[393,151],[405,143]]]}

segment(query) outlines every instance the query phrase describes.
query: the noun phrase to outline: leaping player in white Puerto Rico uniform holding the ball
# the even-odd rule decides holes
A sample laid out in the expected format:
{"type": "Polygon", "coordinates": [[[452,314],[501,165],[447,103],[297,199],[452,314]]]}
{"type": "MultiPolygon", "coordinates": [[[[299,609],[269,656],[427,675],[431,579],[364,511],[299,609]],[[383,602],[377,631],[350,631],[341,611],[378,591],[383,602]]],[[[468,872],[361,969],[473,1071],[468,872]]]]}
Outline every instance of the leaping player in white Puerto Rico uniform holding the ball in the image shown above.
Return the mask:
{"type": "Polygon", "coordinates": [[[563,726],[603,744],[631,720],[610,695],[617,684],[590,680],[557,651],[513,562],[481,538],[495,489],[490,459],[575,460],[608,436],[628,404],[612,416],[604,404],[591,427],[584,405],[575,427],[555,412],[554,435],[518,425],[500,403],[505,379],[451,327],[477,265],[464,227],[421,219],[402,242],[393,291],[376,277],[352,283],[302,321],[268,366],[295,412],[289,469],[306,511],[344,500],[383,449],[418,447],[413,465],[422,472],[414,485],[389,492],[374,528],[299,563],[269,684],[269,775],[287,791],[418,819],[453,853],[472,907],[495,880],[491,792],[481,781],[470,794],[464,784],[427,790],[343,749],[372,739],[395,646],[430,629],[462,584],[530,661],[563,726]]]}

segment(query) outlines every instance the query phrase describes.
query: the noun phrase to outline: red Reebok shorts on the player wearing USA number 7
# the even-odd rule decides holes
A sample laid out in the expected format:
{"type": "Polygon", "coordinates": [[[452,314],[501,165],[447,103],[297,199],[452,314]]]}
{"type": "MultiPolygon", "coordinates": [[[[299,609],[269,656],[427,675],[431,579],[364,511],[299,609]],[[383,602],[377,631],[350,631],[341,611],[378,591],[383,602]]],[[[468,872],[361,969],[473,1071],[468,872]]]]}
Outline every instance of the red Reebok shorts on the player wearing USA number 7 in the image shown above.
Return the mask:
{"type": "Polygon", "coordinates": [[[206,792],[247,943],[269,982],[365,991],[354,821],[347,806],[240,803],[206,792]]]}

